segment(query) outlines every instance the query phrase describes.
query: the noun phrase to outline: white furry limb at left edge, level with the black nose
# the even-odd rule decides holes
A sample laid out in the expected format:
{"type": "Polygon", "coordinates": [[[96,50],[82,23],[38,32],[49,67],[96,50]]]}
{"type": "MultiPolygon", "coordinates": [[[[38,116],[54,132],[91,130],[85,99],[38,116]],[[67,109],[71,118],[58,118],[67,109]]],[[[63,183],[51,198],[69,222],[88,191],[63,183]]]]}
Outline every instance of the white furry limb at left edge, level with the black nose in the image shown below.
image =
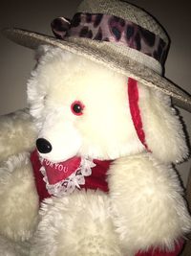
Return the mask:
{"type": "Polygon", "coordinates": [[[0,117],[0,161],[22,151],[32,151],[36,131],[28,109],[0,117]]]}

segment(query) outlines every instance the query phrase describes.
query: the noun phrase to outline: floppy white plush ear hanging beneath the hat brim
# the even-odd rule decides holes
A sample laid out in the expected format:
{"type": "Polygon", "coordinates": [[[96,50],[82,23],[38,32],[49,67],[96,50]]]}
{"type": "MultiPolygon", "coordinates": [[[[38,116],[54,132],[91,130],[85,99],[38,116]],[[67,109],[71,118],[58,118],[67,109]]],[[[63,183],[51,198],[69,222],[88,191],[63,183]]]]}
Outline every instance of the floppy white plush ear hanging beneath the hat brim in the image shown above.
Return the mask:
{"type": "Polygon", "coordinates": [[[180,116],[169,96],[138,84],[138,106],[149,151],[164,163],[177,163],[188,156],[180,116]]]}

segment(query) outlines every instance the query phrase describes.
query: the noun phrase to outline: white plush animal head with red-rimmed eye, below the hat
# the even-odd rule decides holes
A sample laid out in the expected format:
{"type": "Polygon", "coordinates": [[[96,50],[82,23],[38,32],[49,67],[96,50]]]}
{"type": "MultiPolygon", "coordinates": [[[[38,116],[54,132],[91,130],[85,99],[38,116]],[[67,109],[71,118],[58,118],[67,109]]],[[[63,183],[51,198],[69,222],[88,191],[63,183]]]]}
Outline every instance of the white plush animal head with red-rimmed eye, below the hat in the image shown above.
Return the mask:
{"type": "Polygon", "coordinates": [[[170,98],[91,59],[43,46],[28,82],[39,154],[117,159],[151,151],[162,162],[187,155],[170,98]]]}

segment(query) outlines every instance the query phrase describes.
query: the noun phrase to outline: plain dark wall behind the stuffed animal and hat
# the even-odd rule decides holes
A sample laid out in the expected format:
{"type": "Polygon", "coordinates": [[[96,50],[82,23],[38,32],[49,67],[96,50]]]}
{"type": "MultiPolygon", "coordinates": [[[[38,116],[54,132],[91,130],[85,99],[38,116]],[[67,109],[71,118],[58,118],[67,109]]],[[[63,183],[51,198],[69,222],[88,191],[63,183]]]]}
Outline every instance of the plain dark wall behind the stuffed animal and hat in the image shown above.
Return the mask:
{"type": "MultiPolygon", "coordinates": [[[[96,0],[95,0],[96,1],[96,0]]],[[[52,35],[50,23],[72,17],[80,0],[1,0],[0,28],[19,27],[52,35]]],[[[191,93],[191,4],[189,0],[129,0],[151,12],[171,37],[166,77],[191,93]]],[[[26,82],[34,65],[33,52],[0,35],[0,114],[26,106],[26,82]]],[[[191,114],[180,110],[191,134],[191,114]]],[[[191,161],[179,166],[186,182],[191,161]]]]}

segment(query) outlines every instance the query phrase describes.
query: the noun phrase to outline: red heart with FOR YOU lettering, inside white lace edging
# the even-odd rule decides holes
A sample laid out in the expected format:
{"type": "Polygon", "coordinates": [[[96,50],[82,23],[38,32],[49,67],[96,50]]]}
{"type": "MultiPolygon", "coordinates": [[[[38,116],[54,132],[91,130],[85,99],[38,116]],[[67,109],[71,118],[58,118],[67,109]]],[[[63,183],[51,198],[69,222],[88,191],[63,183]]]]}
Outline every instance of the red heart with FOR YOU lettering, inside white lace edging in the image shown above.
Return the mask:
{"type": "Polygon", "coordinates": [[[44,166],[46,170],[49,184],[53,185],[72,175],[80,166],[80,163],[81,158],[74,156],[73,158],[60,163],[53,163],[47,159],[43,159],[42,166],[44,166]]]}

